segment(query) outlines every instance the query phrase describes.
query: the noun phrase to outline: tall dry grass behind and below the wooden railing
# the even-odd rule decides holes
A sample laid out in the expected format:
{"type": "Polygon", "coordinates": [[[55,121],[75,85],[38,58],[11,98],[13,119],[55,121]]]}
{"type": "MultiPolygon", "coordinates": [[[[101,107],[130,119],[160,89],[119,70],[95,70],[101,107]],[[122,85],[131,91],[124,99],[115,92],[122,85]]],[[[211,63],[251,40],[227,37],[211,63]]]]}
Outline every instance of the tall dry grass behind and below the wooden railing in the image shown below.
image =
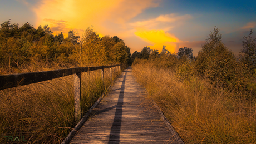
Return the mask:
{"type": "MultiPolygon", "coordinates": [[[[62,67],[56,65],[55,68],[43,67],[43,64],[38,66],[40,67],[27,66],[19,71],[72,67],[63,64],[62,67]]],[[[104,72],[105,85],[100,71],[81,73],[83,113],[110,85],[110,71],[105,69],[104,72]]],[[[74,120],[72,75],[0,91],[0,143],[8,142],[9,137],[14,140],[16,136],[19,139],[22,137],[22,140],[24,137],[25,143],[60,143],[75,127],[74,120]]]]}

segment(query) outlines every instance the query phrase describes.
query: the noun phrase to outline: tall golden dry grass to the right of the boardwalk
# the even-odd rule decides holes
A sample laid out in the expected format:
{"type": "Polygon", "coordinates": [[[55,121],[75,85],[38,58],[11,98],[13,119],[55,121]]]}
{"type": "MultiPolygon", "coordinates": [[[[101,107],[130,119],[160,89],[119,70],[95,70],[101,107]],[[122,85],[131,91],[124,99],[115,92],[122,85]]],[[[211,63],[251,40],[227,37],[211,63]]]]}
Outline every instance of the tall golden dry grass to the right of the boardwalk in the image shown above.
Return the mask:
{"type": "Polygon", "coordinates": [[[256,143],[255,100],[195,76],[180,81],[150,62],[132,66],[132,72],[185,143],[256,143]]]}

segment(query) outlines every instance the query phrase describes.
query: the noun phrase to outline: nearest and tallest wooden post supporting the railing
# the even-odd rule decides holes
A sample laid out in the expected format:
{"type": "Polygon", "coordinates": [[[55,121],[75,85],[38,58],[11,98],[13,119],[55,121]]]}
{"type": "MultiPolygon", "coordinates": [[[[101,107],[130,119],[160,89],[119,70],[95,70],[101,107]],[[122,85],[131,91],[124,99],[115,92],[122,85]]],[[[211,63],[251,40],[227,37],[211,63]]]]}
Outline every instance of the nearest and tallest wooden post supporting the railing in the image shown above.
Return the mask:
{"type": "Polygon", "coordinates": [[[75,121],[81,119],[81,73],[74,74],[75,121]]]}

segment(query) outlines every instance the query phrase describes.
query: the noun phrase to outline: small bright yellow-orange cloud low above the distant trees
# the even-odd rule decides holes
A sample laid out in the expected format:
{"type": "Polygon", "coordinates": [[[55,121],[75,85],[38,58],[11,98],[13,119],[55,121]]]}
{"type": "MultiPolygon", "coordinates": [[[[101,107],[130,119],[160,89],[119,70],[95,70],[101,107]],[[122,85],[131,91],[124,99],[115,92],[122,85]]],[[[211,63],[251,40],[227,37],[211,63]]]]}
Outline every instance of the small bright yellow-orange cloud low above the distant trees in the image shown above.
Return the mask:
{"type": "Polygon", "coordinates": [[[177,48],[177,42],[179,42],[178,38],[170,33],[164,32],[163,30],[139,30],[134,34],[144,39],[144,41],[153,44],[149,46],[151,49],[158,49],[159,51],[161,51],[164,45],[166,46],[166,49],[171,53],[174,53],[177,48]]]}

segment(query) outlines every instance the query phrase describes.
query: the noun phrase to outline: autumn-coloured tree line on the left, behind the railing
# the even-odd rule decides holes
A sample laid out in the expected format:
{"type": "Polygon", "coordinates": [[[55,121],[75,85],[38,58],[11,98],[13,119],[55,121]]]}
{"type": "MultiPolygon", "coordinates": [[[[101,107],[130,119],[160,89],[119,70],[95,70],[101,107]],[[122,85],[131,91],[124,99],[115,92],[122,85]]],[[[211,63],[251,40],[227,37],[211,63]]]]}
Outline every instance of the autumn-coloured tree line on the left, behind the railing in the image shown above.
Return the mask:
{"type": "Polygon", "coordinates": [[[0,28],[1,68],[17,68],[31,63],[52,62],[73,66],[100,66],[104,64],[128,64],[130,48],[117,36],[99,37],[93,26],[82,36],[73,31],[64,38],[63,33],[52,34],[50,27],[24,23],[21,27],[11,24],[11,19],[0,28]]]}

